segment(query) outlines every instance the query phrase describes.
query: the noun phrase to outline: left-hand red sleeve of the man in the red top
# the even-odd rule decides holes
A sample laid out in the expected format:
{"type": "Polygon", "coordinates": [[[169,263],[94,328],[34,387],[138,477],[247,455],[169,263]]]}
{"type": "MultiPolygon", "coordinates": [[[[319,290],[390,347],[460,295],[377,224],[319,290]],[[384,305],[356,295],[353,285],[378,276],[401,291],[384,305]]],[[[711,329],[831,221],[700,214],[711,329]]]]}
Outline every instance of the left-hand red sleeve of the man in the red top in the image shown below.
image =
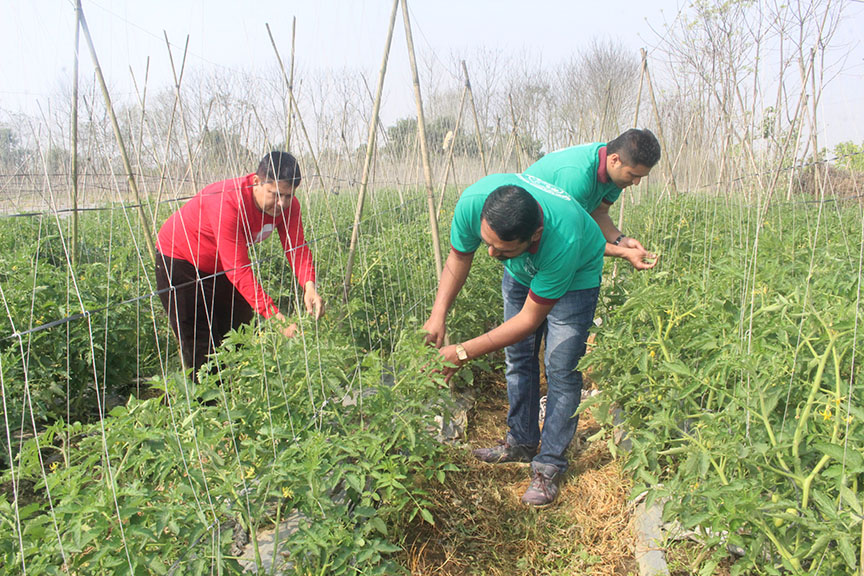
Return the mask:
{"type": "Polygon", "coordinates": [[[265,318],[279,311],[261,287],[252,271],[246,234],[248,223],[243,222],[240,191],[226,190],[221,202],[213,202],[207,210],[211,226],[216,230],[216,254],[225,276],[234,284],[249,305],[265,318]]]}

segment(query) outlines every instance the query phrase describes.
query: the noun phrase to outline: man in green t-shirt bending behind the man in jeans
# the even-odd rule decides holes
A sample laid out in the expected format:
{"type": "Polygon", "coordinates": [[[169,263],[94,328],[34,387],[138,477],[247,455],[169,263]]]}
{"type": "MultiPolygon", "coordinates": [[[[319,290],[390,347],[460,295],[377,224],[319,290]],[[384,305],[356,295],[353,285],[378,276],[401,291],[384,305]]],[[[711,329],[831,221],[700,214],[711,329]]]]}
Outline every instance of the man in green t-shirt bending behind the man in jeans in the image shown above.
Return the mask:
{"type": "Polygon", "coordinates": [[[591,214],[606,238],[606,256],[629,261],[637,270],[653,268],[655,254],[612,222],[609,207],[621,190],[651,172],[660,160],[660,143],[650,130],[631,128],[608,144],[597,142],[546,154],[525,174],[565,190],[591,214]]]}

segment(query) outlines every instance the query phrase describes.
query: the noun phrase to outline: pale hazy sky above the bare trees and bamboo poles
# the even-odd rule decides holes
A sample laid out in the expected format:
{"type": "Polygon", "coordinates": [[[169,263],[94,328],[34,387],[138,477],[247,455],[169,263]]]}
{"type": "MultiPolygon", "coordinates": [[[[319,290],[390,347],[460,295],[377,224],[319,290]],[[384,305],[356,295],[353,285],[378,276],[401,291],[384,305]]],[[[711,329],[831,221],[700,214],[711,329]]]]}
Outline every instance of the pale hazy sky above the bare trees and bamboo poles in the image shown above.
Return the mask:
{"type": "MultiPolygon", "coordinates": [[[[569,58],[593,39],[621,42],[638,54],[656,43],[653,30],[675,18],[686,0],[409,0],[418,58],[449,62],[479,47],[528,52],[544,66],[569,58]]],[[[100,63],[115,98],[131,95],[130,68],[139,82],[150,57],[149,86],[170,83],[163,30],[175,59],[190,37],[188,69],[265,70],[274,65],[264,27],[270,24],[283,58],[290,53],[297,17],[298,78],[320,69],[362,70],[374,84],[384,48],[390,0],[83,0],[100,63]]],[[[72,0],[0,0],[0,110],[38,113],[58,98],[71,78],[74,45],[72,0]]],[[[846,72],[826,92],[829,141],[864,141],[864,3],[853,2],[838,39],[852,50],[846,72]]],[[[81,40],[82,78],[92,76],[81,40]]],[[[410,114],[411,81],[401,14],[397,20],[384,118],[410,114]],[[395,110],[392,108],[396,108],[395,110]],[[404,109],[402,109],[404,108],[404,109]]],[[[0,117],[2,119],[2,117],[0,117]]]]}

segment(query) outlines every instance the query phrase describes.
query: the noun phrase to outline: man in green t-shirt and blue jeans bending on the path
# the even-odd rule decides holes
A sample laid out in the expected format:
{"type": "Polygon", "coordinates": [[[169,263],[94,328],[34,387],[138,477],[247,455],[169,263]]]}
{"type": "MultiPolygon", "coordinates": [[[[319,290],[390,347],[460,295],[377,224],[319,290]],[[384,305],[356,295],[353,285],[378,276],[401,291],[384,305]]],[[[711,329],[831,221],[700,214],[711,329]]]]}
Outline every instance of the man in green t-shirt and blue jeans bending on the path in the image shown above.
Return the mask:
{"type": "Polygon", "coordinates": [[[522,501],[545,506],[558,495],[567,448],[576,432],[585,353],[603,272],[604,240],[585,210],[560,188],[524,174],[493,174],[468,187],[456,204],[450,254],[427,341],[441,347],[447,311],[465,284],[481,243],[504,264],[504,323],[441,348],[449,379],[465,362],[505,349],[509,432],[500,445],[474,451],[486,462],[531,462],[522,501]],[[545,337],[548,401],[541,436],[540,341],[545,337]],[[538,451],[539,446],[539,451],[538,451]]]}

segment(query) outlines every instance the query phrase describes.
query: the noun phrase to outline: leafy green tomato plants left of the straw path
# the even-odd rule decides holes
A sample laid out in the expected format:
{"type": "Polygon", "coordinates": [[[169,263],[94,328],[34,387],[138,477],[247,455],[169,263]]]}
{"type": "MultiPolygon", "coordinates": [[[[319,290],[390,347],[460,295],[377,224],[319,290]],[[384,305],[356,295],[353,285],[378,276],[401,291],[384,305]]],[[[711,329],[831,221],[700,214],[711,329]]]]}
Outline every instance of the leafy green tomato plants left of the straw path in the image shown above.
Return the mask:
{"type": "MultiPolygon", "coordinates": [[[[292,511],[304,520],[281,546],[298,573],[396,570],[400,526],[432,521],[424,487],[452,468],[434,440],[448,388],[416,333],[435,287],[427,216],[378,193],[345,302],[340,202],[335,230],[320,207],[307,224],[325,318],[289,341],[268,323],[232,334],[197,386],[158,300],[127,302],[152,288],[125,219],[82,222],[74,284],[55,221],[3,222],[5,334],[100,312],[4,340],[0,572],[239,572],[236,535],[292,511]],[[139,374],[149,392],[99,419],[95,385],[128,395],[139,374]]],[[[268,292],[296,305],[278,243],[256,258],[268,292]]],[[[479,314],[494,309],[461,325],[479,314]]]]}

